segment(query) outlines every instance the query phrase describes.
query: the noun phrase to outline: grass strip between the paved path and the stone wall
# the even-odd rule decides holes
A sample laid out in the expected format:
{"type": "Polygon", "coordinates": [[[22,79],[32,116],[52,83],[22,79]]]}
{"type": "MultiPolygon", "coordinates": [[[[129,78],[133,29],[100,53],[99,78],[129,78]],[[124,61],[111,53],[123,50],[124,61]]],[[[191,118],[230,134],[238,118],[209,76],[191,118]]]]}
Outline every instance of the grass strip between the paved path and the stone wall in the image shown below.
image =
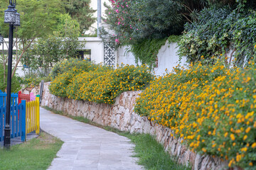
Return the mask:
{"type": "Polygon", "coordinates": [[[135,145],[134,148],[134,157],[139,158],[138,164],[144,166],[145,169],[149,170],[188,170],[186,166],[178,164],[174,160],[171,159],[170,155],[164,152],[164,147],[159,144],[154,137],[151,137],[149,134],[139,134],[134,133],[131,134],[129,132],[122,132],[115,128],[106,127],[99,125],[97,123],[93,123],[87,118],[83,118],[81,116],[72,116],[63,113],[62,111],[55,111],[52,108],[46,108],[48,111],[52,111],[53,113],[65,115],[69,118],[73,118],[74,120],[78,120],[83,123],[88,123],[90,125],[95,125],[99,128],[103,128],[105,130],[115,132],[119,135],[128,137],[135,145]]]}

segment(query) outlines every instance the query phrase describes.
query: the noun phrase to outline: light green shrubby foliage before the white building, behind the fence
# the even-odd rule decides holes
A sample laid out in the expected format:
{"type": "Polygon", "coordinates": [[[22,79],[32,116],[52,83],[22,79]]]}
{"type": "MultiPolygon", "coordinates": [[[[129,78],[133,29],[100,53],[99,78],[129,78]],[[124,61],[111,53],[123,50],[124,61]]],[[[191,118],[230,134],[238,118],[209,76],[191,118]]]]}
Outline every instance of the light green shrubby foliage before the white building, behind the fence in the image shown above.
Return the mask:
{"type": "Polygon", "coordinates": [[[76,57],[77,50],[85,45],[85,42],[78,41],[79,33],[78,21],[68,14],[62,14],[58,18],[58,26],[53,35],[38,38],[21,62],[28,67],[29,71],[37,71],[42,76],[48,76],[50,67],[65,58],[76,57]]]}

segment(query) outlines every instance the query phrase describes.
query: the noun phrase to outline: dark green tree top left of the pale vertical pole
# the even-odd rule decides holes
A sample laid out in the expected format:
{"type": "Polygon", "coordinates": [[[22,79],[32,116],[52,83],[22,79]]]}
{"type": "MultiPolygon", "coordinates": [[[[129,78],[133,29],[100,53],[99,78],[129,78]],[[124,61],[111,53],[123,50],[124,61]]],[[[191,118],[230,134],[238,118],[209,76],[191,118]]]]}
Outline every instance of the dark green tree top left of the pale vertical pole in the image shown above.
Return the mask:
{"type": "Polygon", "coordinates": [[[93,17],[95,10],[90,8],[89,5],[90,0],[68,0],[68,4],[65,6],[70,16],[78,20],[81,33],[84,33],[96,20],[93,17]]]}

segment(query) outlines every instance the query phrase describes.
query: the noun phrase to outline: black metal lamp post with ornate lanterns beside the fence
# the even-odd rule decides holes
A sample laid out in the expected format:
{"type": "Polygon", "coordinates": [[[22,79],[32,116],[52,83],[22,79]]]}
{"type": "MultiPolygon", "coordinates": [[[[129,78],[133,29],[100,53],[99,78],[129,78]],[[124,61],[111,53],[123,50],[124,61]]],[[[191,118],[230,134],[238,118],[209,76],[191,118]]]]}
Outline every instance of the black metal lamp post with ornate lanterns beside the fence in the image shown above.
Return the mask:
{"type": "Polygon", "coordinates": [[[9,23],[9,52],[8,52],[8,75],[7,75],[7,95],[6,95],[6,126],[4,128],[4,148],[10,149],[11,146],[11,69],[14,41],[14,26],[20,26],[20,15],[16,10],[16,0],[9,0],[9,6],[4,11],[4,23],[9,23]]]}

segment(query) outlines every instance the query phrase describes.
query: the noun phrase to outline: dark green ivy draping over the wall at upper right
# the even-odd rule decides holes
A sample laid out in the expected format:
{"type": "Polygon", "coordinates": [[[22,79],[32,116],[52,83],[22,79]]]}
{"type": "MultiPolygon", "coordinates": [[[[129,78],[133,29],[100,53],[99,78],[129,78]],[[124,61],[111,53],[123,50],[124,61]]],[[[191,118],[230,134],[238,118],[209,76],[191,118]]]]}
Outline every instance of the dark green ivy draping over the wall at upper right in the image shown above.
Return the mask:
{"type": "Polygon", "coordinates": [[[243,67],[255,56],[256,11],[248,1],[244,7],[205,8],[198,21],[186,24],[186,33],[178,43],[179,55],[188,62],[207,61],[219,56],[235,57],[235,65],[243,67]]]}

